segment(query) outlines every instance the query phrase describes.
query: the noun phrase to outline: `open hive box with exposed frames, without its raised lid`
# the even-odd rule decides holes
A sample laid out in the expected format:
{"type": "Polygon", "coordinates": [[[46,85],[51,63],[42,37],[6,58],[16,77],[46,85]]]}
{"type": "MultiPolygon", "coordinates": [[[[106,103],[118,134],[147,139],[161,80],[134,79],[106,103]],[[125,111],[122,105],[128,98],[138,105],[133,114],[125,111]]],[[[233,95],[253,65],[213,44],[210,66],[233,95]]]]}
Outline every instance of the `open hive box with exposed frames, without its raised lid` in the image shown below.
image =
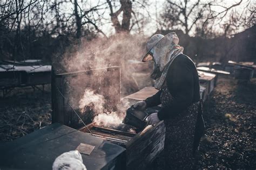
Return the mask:
{"type": "MultiPolygon", "coordinates": [[[[98,127],[97,129],[95,123],[91,123],[87,127],[94,136],[126,148],[126,169],[145,169],[164,149],[165,126],[163,121],[154,126],[146,126],[137,134],[108,128],[98,127]]],[[[80,131],[90,134],[85,127],[80,131]]]]}

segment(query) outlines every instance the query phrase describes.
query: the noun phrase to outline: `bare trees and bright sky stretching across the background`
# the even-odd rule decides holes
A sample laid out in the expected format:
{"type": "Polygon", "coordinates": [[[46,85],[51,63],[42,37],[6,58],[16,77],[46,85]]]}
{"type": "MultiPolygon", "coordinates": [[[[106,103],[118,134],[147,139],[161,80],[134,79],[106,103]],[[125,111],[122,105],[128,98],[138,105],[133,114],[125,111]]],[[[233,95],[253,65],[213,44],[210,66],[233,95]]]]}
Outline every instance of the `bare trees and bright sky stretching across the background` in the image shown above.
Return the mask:
{"type": "Polygon", "coordinates": [[[163,4],[163,11],[152,12],[158,1],[5,0],[0,2],[0,56],[50,62],[53,55],[61,55],[71,44],[79,46],[83,39],[144,34],[153,20],[158,30],[182,30],[185,36],[203,39],[232,37],[238,30],[255,25],[253,2],[220,2],[170,0],[163,4]],[[240,12],[234,10],[241,4],[240,12]],[[111,27],[103,29],[109,23],[111,27]],[[221,31],[212,29],[214,25],[221,31]]]}

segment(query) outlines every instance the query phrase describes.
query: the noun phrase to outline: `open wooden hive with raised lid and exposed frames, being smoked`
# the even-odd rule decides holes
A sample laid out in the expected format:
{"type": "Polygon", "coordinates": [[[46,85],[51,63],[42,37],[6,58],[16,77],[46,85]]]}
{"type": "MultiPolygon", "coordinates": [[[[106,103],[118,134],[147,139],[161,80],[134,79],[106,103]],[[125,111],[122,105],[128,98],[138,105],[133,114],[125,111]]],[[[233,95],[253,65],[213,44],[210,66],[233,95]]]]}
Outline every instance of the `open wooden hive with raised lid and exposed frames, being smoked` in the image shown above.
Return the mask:
{"type": "MultiPolygon", "coordinates": [[[[120,108],[122,109],[123,106],[119,104],[120,67],[105,67],[72,73],[61,73],[55,74],[52,77],[53,122],[71,126],[72,128],[79,129],[79,131],[84,133],[92,133],[92,136],[96,138],[101,138],[126,148],[125,162],[127,169],[146,168],[146,166],[149,165],[150,162],[152,162],[163,150],[165,138],[165,126],[163,121],[159,122],[155,126],[149,125],[146,126],[145,129],[140,130],[132,126],[125,125],[122,121],[119,122],[117,126],[105,126],[105,124],[98,124],[95,122],[95,118],[92,118],[93,116],[97,117],[100,115],[99,113],[102,111],[101,107],[95,108],[98,115],[93,115],[95,114],[95,110],[87,107],[87,102],[82,102],[86,105],[86,107],[83,105],[82,108],[85,108],[85,110],[87,109],[87,111],[81,111],[81,102],[79,101],[81,98],[86,98],[86,93],[84,93],[85,89],[91,89],[96,94],[104,96],[104,100],[106,101],[103,104],[104,108],[112,111],[120,108]],[[75,111],[87,124],[87,128],[74,114],[75,111]],[[85,115],[87,114],[83,115],[82,112],[90,112],[93,116],[86,118],[85,115]],[[129,131],[130,129],[133,131],[129,131]]],[[[92,100],[92,97],[87,98],[92,100]]],[[[95,101],[98,101],[98,99],[100,99],[99,96],[95,101]]],[[[153,109],[148,111],[150,113],[156,110],[153,109]]],[[[112,112],[112,114],[113,113],[114,112],[112,112]]],[[[106,112],[102,112],[102,114],[106,114],[106,112]]]]}

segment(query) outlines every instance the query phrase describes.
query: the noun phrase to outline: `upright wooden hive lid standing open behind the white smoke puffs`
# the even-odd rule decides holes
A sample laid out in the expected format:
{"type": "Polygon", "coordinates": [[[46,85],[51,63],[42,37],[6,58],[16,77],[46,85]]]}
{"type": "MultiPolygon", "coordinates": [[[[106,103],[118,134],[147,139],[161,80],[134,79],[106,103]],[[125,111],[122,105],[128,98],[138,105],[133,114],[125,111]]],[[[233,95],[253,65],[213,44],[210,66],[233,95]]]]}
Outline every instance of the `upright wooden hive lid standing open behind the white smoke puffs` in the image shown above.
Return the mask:
{"type": "MultiPolygon", "coordinates": [[[[79,128],[72,107],[79,112],[78,103],[86,88],[103,95],[113,107],[120,102],[120,67],[105,67],[78,72],[55,74],[52,71],[52,123],[79,128]],[[63,97],[64,96],[64,97],[63,97]],[[114,96],[114,98],[111,98],[114,96]]],[[[85,122],[90,123],[90,122],[85,122]]]]}

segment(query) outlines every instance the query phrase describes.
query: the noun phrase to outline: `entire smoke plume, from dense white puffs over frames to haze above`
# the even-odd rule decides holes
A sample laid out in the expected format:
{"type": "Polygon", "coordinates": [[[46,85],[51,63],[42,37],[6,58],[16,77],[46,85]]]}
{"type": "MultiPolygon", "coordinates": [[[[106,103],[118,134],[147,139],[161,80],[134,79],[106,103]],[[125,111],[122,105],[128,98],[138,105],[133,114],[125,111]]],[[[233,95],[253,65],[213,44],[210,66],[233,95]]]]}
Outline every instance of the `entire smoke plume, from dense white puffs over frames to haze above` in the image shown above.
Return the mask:
{"type": "Polygon", "coordinates": [[[79,108],[86,122],[96,122],[97,125],[109,128],[122,124],[129,105],[120,102],[110,106],[110,103],[120,101],[120,98],[143,87],[152,86],[152,63],[141,61],[146,52],[146,40],[143,36],[130,34],[82,40],[79,46],[73,46],[63,55],[61,65],[64,72],[120,66],[120,79],[116,74],[112,75],[113,73],[92,72],[90,78],[71,76],[65,80],[65,87],[68,87],[65,94],[68,95],[72,107],[79,108]],[[99,80],[105,82],[99,84],[99,80]]]}

